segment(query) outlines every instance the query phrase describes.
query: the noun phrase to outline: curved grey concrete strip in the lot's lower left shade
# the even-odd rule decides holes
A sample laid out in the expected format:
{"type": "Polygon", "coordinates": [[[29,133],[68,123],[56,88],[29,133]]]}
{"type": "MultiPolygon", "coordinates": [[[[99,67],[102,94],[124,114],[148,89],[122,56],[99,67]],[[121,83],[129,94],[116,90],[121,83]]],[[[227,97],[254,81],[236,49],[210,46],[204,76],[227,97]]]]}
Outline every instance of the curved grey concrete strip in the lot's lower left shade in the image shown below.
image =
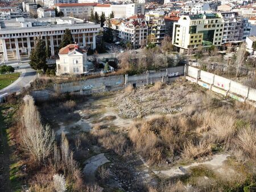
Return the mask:
{"type": "Polygon", "coordinates": [[[104,153],[100,153],[86,160],[84,162],[85,167],[82,170],[82,173],[85,175],[86,182],[94,182],[96,170],[99,166],[104,165],[106,162],[110,161],[105,157],[104,153]]]}

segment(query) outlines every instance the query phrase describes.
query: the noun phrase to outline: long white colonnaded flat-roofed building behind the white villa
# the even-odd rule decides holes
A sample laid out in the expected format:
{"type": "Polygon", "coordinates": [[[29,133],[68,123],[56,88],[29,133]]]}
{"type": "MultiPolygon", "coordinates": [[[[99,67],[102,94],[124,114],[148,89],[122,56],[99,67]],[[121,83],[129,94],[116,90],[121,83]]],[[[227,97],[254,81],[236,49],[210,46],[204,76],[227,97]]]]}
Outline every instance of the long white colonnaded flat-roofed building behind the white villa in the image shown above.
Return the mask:
{"type": "Polygon", "coordinates": [[[30,55],[35,47],[36,39],[42,38],[49,45],[51,55],[57,55],[59,45],[63,39],[65,29],[71,30],[73,40],[86,48],[96,48],[96,34],[100,31],[100,24],[84,22],[82,19],[16,18],[0,22],[0,40],[4,61],[20,60],[30,55]]]}

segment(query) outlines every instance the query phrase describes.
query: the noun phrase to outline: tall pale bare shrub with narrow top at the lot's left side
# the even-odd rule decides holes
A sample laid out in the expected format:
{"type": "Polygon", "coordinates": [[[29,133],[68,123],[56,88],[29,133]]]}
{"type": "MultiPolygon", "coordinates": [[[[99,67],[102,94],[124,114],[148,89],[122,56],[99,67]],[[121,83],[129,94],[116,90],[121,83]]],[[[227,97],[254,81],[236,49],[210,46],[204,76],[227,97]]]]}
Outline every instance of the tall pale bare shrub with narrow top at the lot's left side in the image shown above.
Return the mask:
{"type": "Polygon", "coordinates": [[[53,150],[54,133],[49,126],[43,127],[40,115],[30,95],[24,97],[23,128],[20,130],[23,150],[36,162],[45,161],[53,150]]]}

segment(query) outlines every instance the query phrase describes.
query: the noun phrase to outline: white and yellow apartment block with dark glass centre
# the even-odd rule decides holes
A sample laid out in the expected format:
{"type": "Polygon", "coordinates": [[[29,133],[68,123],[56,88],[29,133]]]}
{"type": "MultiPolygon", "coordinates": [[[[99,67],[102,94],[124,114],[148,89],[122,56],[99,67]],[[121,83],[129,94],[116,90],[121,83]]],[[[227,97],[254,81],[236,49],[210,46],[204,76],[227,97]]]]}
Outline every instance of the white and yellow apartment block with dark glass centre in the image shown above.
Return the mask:
{"type": "Polygon", "coordinates": [[[172,43],[180,52],[195,49],[199,45],[204,48],[221,46],[224,23],[219,13],[183,15],[174,23],[172,43]]]}

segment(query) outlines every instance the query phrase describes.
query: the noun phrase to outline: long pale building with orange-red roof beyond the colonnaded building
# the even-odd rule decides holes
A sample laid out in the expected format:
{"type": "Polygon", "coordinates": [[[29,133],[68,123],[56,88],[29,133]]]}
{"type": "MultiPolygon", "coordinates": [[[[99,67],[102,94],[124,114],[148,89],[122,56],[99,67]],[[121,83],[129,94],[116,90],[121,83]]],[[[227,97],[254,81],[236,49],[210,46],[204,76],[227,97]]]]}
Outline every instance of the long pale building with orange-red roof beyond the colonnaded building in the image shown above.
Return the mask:
{"type": "Polygon", "coordinates": [[[59,3],[55,7],[58,11],[63,12],[64,16],[83,16],[89,18],[90,12],[94,11],[97,3],[59,3]]]}

